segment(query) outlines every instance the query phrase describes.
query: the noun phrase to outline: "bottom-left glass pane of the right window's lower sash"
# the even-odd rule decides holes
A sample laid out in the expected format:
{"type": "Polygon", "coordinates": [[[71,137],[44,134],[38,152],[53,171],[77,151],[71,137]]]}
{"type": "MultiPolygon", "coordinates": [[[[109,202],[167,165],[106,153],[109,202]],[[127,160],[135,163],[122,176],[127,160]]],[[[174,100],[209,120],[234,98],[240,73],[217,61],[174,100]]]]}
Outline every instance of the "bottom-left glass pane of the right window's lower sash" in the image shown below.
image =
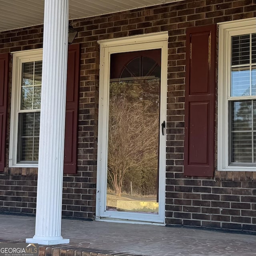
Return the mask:
{"type": "Polygon", "coordinates": [[[252,162],[251,132],[232,132],[231,162],[252,162]]]}

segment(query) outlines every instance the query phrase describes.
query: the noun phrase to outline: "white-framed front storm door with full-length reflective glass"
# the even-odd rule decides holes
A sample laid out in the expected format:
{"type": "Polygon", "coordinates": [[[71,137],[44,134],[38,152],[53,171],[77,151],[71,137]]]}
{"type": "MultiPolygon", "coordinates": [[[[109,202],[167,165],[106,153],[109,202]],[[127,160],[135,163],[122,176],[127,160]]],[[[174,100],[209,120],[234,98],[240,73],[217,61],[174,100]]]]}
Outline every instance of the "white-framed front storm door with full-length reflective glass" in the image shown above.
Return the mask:
{"type": "Polygon", "coordinates": [[[167,42],[100,42],[96,218],[164,223],[167,42]]]}

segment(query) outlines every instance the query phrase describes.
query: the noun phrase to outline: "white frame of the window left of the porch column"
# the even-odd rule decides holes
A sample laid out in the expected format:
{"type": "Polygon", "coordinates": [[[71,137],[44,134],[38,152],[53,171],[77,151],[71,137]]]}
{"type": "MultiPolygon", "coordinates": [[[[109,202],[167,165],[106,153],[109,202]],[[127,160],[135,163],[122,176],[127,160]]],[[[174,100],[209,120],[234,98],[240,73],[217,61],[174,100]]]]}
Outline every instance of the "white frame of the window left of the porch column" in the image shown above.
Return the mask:
{"type": "Polygon", "coordinates": [[[17,163],[18,109],[20,106],[22,63],[42,60],[42,56],[42,49],[12,52],[12,95],[10,116],[9,167],[38,166],[38,164],[35,163],[17,163]]]}

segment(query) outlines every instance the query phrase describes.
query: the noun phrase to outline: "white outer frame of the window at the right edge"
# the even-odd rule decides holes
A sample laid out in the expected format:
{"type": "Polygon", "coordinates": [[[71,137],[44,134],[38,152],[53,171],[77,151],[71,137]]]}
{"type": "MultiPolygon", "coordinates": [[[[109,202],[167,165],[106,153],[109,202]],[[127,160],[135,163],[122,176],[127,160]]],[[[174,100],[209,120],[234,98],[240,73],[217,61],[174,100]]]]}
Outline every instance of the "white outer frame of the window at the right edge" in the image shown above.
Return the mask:
{"type": "MultiPolygon", "coordinates": [[[[217,170],[219,171],[256,171],[256,166],[229,165],[228,149],[228,98],[234,100],[245,97],[230,97],[231,36],[256,32],[256,19],[249,18],[219,23],[218,48],[218,144],[217,170]]],[[[256,96],[246,96],[246,100],[256,96]]]]}

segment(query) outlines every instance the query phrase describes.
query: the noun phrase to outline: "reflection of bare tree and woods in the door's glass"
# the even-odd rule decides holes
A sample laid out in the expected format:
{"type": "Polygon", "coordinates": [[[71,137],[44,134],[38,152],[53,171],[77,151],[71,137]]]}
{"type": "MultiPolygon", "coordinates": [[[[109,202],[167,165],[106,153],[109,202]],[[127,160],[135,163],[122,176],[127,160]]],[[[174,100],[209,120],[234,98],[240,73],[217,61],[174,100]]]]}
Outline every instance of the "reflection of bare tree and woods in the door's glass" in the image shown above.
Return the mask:
{"type": "Polygon", "coordinates": [[[159,88],[159,82],[151,84],[142,80],[110,84],[108,186],[118,196],[130,180],[143,194],[156,192],[159,92],[154,86],[159,88]],[[157,93],[146,94],[143,88],[151,84],[157,93]]]}

